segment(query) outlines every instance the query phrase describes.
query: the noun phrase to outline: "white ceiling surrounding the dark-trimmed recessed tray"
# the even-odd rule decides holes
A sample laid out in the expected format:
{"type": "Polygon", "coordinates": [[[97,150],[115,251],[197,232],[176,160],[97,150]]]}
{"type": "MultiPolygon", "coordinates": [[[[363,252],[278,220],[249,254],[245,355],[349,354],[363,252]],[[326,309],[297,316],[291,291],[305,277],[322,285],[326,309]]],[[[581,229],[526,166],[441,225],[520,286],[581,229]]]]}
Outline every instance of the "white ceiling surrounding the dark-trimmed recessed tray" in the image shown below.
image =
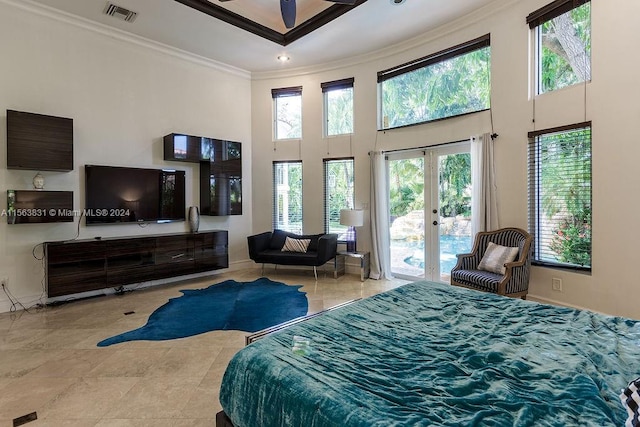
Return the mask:
{"type": "MultiPolygon", "coordinates": [[[[27,0],[28,1],[28,0],[27,0]]],[[[286,47],[265,40],[174,0],[111,0],[137,12],[134,22],[103,14],[106,0],[30,0],[134,33],[250,72],[278,71],[343,61],[401,43],[500,0],[368,0],[286,47]],[[286,53],[291,60],[276,60],[286,53]]],[[[279,0],[234,0],[221,5],[285,32],[279,0]]],[[[298,25],[333,3],[297,0],[298,25]]]]}

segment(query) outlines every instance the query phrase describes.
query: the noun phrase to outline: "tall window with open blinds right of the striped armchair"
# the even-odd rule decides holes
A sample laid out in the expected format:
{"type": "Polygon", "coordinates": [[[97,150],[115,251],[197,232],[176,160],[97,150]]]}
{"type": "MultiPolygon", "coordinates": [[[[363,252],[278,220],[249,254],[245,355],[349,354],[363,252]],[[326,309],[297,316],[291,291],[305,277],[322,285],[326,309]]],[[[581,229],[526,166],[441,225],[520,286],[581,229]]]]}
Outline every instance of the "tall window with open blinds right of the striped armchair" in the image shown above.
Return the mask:
{"type": "Polygon", "coordinates": [[[591,122],[529,133],[534,263],[591,269],[591,122]]]}

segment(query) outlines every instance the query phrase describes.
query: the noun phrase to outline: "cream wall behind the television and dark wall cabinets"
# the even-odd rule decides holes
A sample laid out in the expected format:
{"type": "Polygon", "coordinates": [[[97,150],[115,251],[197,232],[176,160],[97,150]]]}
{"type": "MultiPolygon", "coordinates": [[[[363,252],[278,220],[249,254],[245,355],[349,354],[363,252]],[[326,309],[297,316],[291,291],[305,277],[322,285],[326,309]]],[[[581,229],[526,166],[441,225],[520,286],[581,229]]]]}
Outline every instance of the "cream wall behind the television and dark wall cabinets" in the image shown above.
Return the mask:
{"type": "MultiPolygon", "coordinates": [[[[73,190],[84,208],[84,165],[170,167],[186,171],[186,203],[198,205],[198,165],[165,162],[162,137],[183,132],[243,143],[244,215],[203,217],[200,230],[229,230],[230,262],[246,259],[251,228],[251,83],[248,73],[205,63],[175,50],[0,2],[0,146],[6,147],[6,110],[74,120],[74,170],[42,172],[47,190],[73,190]]],[[[37,155],[37,153],[34,153],[37,155]]],[[[6,165],[6,149],[0,150],[6,165]]],[[[0,190],[30,189],[36,171],[0,167],[0,190]]],[[[4,197],[4,196],[2,196],[4,197]]],[[[0,203],[4,209],[6,202],[0,203]]],[[[32,248],[75,237],[76,222],[8,225],[0,218],[0,277],[22,302],[42,290],[43,268],[32,248]]],[[[185,222],[80,226],[80,238],[162,234],[185,222]]],[[[41,253],[38,248],[38,254],[41,253]]],[[[9,307],[0,292],[0,311],[9,307]]]]}

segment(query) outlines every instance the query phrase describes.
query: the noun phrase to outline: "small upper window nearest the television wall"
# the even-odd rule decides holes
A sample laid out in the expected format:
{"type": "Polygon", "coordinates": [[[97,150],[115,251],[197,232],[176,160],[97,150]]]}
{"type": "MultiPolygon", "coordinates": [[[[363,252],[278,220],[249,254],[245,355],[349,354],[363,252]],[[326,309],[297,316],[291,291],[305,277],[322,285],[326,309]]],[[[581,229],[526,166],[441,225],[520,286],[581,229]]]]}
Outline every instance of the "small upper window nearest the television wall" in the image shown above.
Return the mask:
{"type": "Polygon", "coordinates": [[[302,138],[302,86],[271,89],[274,139],[302,138]]]}

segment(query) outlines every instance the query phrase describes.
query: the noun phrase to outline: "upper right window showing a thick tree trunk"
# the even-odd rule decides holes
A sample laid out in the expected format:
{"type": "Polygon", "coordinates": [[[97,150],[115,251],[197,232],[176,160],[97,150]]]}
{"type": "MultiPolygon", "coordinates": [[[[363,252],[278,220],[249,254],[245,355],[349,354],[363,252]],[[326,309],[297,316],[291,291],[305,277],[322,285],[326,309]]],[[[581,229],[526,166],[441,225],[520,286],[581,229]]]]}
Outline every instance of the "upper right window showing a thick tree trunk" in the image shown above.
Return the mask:
{"type": "Polygon", "coordinates": [[[537,93],[591,80],[589,0],[556,0],[527,23],[536,34],[537,93]]]}

